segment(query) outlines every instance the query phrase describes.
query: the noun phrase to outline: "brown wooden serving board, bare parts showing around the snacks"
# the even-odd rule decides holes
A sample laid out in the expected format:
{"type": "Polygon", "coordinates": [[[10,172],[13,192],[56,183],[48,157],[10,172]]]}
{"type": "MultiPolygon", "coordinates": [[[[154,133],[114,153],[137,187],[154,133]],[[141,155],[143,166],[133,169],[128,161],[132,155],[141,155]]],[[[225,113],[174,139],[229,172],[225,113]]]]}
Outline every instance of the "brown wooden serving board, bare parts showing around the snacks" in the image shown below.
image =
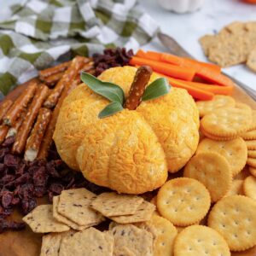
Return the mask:
{"type": "MultiPolygon", "coordinates": [[[[11,91],[6,98],[14,100],[20,95],[20,92],[26,88],[27,84],[18,86],[11,91]]],[[[236,86],[232,95],[236,101],[246,103],[256,110],[256,102],[247,95],[244,90],[236,86]]],[[[1,102],[0,102],[1,108],[1,102]]],[[[14,218],[20,220],[20,213],[15,212],[14,218]]],[[[0,256],[39,256],[41,248],[42,235],[35,234],[26,227],[26,230],[8,231],[0,234],[0,256]]],[[[244,252],[232,253],[232,256],[256,256],[256,246],[244,252]]]]}

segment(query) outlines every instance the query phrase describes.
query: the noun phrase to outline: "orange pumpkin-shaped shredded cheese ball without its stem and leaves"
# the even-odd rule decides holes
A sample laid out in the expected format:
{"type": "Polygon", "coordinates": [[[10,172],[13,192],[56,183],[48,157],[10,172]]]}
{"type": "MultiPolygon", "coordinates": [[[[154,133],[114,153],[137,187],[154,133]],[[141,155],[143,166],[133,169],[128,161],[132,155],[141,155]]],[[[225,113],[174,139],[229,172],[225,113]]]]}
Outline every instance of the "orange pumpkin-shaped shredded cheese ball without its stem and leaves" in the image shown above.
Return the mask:
{"type": "MultiPolygon", "coordinates": [[[[118,84],[128,96],[137,68],[113,67],[98,79],[118,84]]],[[[158,79],[152,74],[150,82],[158,79]]],[[[172,88],[165,96],[99,119],[109,104],[80,84],[65,99],[54,140],[61,159],[90,182],[120,193],[140,194],[166,182],[195,153],[199,114],[188,92],[172,88]]]]}

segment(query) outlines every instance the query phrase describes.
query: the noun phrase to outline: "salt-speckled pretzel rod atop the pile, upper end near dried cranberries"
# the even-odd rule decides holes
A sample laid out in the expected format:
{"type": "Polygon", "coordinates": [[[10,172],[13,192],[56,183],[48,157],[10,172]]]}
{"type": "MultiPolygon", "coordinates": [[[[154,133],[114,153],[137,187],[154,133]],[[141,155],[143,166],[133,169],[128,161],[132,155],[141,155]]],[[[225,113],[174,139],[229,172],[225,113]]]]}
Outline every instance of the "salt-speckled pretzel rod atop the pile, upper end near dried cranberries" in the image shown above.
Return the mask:
{"type": "Polygon", "coordinates": [[[64,73],[61,80],[55,85],[55,88],[47,97],[44,102],[44,107],[54,108],[55,104],[58,102],[58,98],[61,96],[61,91],[64,87],[67,87],[73,79],[76,78],[81,68],[84,66],[84,63],[88,62],[89,59],[82,56],[76,56],[71,62],[70,66],[67,68],[67,71],[64,73]]]}

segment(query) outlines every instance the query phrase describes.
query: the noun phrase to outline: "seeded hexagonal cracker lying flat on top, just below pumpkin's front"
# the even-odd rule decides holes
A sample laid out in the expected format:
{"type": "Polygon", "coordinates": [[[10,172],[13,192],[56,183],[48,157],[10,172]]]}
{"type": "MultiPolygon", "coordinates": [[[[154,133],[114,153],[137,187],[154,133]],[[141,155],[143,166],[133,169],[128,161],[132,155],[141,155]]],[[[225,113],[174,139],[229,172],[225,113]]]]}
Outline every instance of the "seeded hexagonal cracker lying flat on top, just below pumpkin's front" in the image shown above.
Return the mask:
{"type": "Polygon", "coordinates": [[[92,201],[91,207],[106,217],[131,215],[143,203],[137,195],[119,195],[115,192],[102,193],[92,201]]]}

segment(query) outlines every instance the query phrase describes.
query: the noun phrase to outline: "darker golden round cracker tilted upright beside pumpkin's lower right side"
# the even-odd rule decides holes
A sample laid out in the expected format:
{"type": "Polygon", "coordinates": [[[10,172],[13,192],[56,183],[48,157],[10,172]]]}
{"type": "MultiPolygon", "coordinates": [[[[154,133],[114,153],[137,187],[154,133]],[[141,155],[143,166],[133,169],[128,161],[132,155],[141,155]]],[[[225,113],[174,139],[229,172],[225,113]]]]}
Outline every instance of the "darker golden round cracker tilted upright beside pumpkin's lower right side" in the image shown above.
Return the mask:
{"type": "Polygon", "coordinates": [[[210,192],[212,202],[218,201],[228,192],[232,181],[228,161],[214,152],[195,154],[185,166],[183,176],[203,183],[210,192]]]}

